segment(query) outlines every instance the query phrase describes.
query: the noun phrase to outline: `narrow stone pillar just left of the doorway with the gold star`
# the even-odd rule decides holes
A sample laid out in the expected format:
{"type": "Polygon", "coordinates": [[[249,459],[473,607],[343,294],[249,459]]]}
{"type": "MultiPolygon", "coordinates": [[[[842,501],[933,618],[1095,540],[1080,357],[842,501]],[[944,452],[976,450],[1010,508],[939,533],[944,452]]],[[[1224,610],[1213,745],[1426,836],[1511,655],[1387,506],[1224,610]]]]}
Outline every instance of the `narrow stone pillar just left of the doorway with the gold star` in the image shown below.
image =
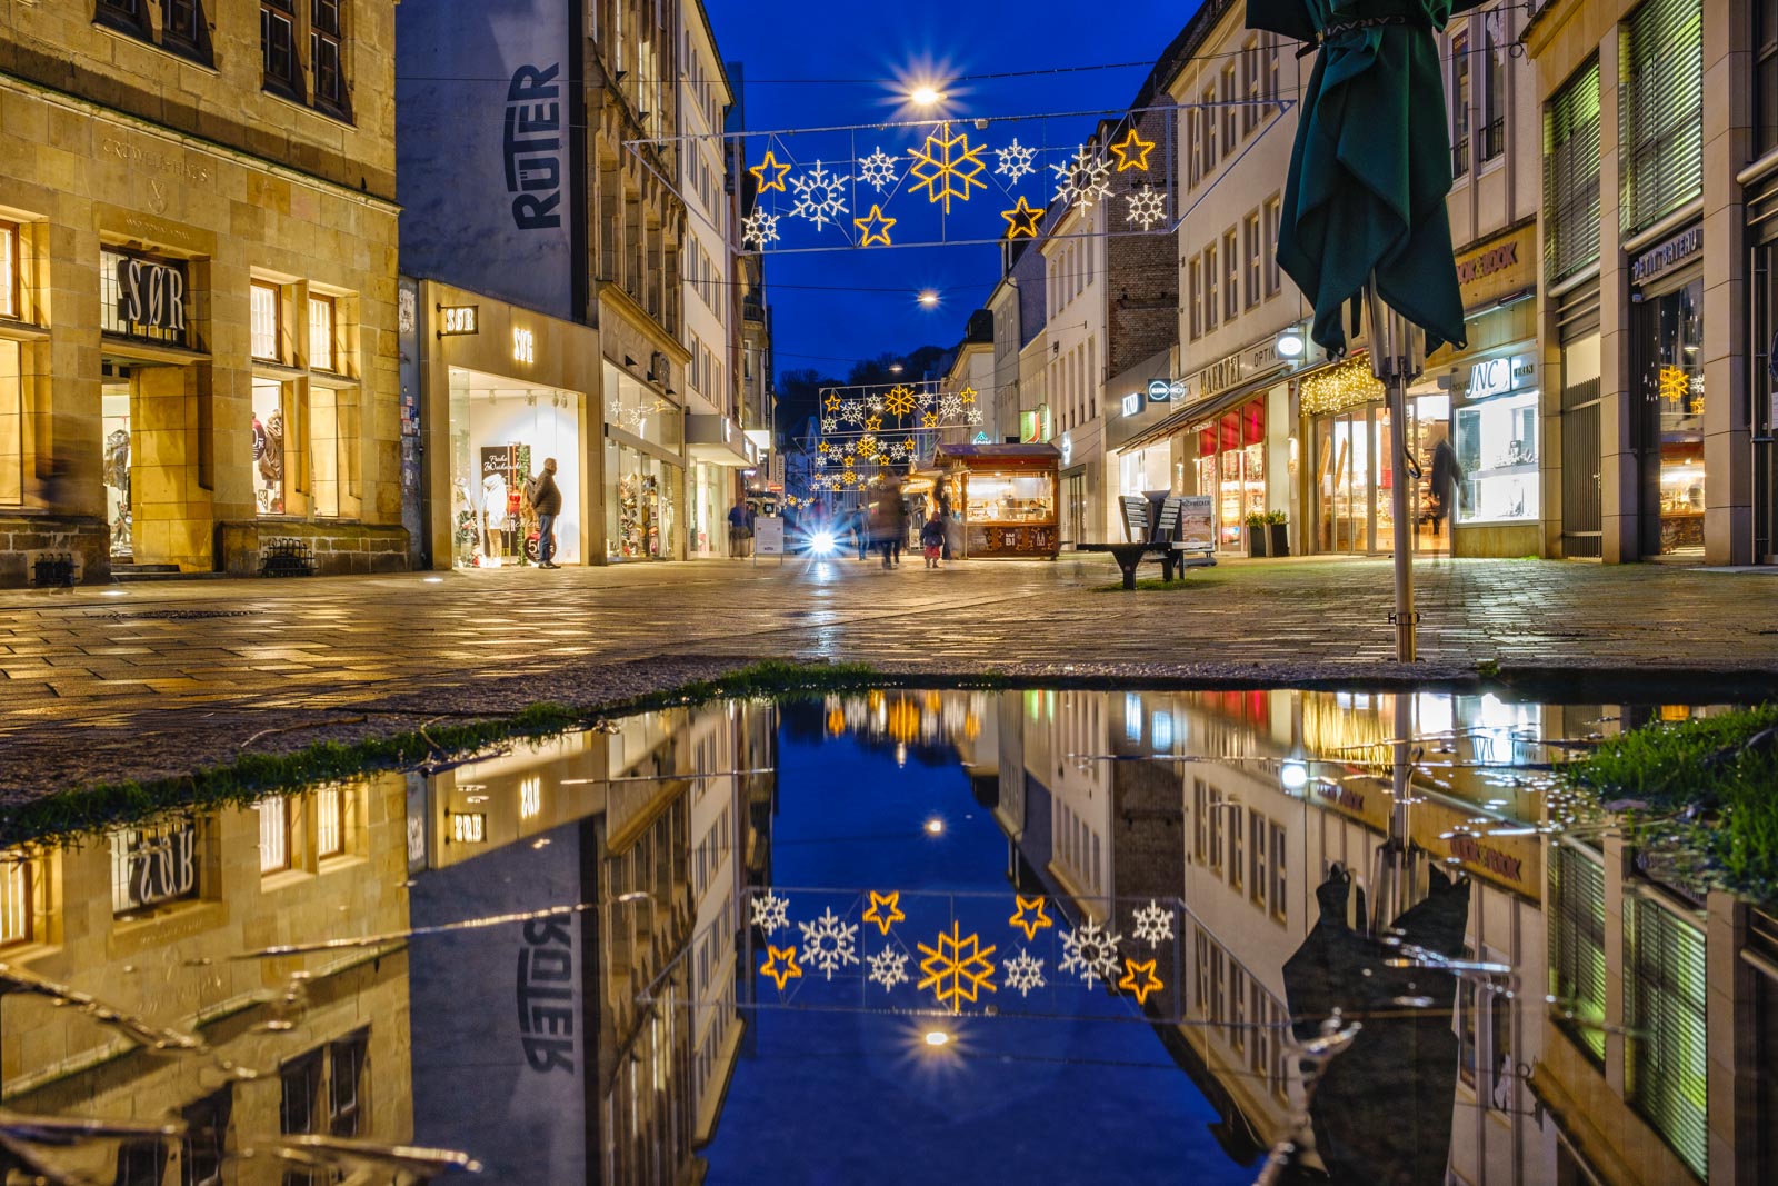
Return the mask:
{"type": "Polygon", "coordinates": [[[1613,28],[1598,44],[1598,485],[1606,564],[1641,557],[1641,475],[1632,439],[1643,393],[1632,370],[1630,293],[1618,206],[1618,62],[1613,28]]]}

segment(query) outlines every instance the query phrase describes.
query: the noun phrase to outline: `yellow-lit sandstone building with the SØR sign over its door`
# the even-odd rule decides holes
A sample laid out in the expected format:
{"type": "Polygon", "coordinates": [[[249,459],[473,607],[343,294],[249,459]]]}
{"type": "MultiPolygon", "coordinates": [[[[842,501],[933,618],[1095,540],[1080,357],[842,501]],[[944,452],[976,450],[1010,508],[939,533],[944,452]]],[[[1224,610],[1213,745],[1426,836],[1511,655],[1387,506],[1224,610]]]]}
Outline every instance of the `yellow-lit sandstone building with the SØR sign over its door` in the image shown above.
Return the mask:
{"type": "Polygon", "coordinates": [[[0,583],[405,567],[395,5],[0,28],[0,583]]]}

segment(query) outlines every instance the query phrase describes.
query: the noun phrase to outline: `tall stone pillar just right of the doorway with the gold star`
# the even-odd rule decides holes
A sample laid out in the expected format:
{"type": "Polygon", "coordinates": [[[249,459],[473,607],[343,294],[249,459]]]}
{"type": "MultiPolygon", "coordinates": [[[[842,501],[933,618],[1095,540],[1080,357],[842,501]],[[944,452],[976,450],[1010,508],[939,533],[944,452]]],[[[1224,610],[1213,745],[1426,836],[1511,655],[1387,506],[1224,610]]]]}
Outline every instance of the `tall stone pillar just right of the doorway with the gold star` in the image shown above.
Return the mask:
{"type": "Polygon", "coordinates": [[[1746,215],[1735,174],[1753,156],[1746,12],[1703,0],[1703,548],[1709,564],[1753,562],[1748,430],[1746,215]]]}

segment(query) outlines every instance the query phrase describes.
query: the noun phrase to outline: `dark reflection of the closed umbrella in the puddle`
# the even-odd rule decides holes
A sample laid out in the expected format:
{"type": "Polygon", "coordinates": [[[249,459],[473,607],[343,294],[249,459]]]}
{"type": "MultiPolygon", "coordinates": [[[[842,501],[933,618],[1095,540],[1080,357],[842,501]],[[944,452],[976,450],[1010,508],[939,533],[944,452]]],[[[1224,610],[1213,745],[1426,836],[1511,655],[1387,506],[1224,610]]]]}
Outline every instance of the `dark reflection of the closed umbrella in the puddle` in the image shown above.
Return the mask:
{"type": "MultiPolygon", "coordinates": [[[[1316,889],[1321,918],[1284,966],[1298,1040],[1339,1008],[1362,1022],[1310,1101],[1316,1149],[1334,1182],[1401,1186],[1440,1182],[1451,1156],[1456,978],[1426,967],[1389,967],[1396,950],[1346,925],[1351,880],[1344,869],[1316,889]]],[[[1431,875],[1430,896],[1396,919],[1401,942],[1458,957],[1469,921],[1469,882],[1431,875]]]]}

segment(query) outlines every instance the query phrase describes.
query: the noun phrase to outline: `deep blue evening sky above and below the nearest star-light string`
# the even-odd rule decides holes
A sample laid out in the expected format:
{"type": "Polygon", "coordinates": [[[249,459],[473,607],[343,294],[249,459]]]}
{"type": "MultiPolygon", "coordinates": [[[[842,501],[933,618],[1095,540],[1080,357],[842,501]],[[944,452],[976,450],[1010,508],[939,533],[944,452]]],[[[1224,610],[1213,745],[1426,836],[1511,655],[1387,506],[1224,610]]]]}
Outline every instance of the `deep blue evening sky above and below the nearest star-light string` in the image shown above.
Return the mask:
{"type": "MultiPolygon", "coordinates": [[[[706,7],[722,55],[745,66],[749,130],[784,130],[917,117],[917,112],[898,108],[898,87],[884,80],[923,62],[944,64],[946,80],[1141,62],[1124,69],[951,84],[946,87],[951,105],[944,114],[1122,108],[1198,5],[1197,0],[1108,5],[706,0],[706,7]]],[[[1090,119],[1072,123],[1077,126],[1051,124],[1049,135],[1085,139],[1092,132],[1090,119]]],[[[750,142],[749,151],[757,160],[763,146],[750,142]]],[[[1033,204],[1037,201],[1033,197],[1033,204]]],[[[846,363],[857,357],[926,343],[955,345],[964,336],[965,318],[987,301],[997,277],[997,251],[989,245],[768,256],[777,368],[781,373],[804,366],[845,373],[846,363]],[[830,292],[827,286],[891,292],[830,292]],[[921,288],[944,293],[939,311],[925,311],[914,302],[921,288]]]]}

